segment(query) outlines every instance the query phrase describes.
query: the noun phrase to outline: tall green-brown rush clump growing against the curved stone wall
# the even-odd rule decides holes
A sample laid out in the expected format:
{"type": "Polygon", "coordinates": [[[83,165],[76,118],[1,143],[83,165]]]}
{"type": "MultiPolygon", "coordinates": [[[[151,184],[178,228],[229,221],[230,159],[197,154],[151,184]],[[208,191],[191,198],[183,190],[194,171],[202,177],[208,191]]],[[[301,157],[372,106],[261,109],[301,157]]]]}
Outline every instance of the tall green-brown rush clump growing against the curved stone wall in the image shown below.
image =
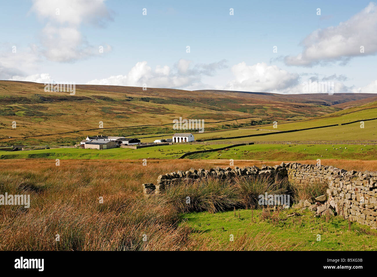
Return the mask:
{"type": "Polygon", "coordinates": [[[272,178],[213,179],[181,182],[166,189],[159,199],[171,203],[178,213],[208,211],[216,213],[233,208],[261,208],[261,194],[292,194],[287,180],[272,178]]]}

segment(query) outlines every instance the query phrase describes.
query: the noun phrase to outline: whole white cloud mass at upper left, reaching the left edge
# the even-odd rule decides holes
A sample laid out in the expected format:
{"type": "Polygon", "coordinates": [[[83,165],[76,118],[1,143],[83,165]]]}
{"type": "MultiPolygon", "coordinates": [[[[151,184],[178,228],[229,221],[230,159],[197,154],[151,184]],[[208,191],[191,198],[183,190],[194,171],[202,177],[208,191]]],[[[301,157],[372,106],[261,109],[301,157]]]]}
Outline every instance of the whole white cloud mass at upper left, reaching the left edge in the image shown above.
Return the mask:
{"type": "MultiPolygon", "coordinates": [[[[25,45],[0,44],[0,79],[40,81],[36,72],[45,61],[73,62],[100,55],[100,45],[92,46],[80,32],[81,24],[104,26],[112,20],[105,0],[33,0],[30,12],[44,22],[38,39],[40,43],[25,45]],[[12,51],[16,47],[16,51],[12,51]]],[[[102,43],[102,53],[111,46],[102,43]]],[[[39,71],[39,70],[38,70],[39,71]]],[[[37,71],[37,72],[38,72],[37,71]]],[[[40,75],[40,74],[39,74],[40,75]]]]}

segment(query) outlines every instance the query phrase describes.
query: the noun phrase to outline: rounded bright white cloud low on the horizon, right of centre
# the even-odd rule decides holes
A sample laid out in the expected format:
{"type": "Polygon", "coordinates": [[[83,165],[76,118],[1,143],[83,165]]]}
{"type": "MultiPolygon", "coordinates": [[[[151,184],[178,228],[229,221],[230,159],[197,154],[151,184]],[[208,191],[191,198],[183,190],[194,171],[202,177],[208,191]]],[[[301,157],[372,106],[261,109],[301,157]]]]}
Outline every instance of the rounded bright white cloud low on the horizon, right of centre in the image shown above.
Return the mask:
{"type": "Polygon", "coordinates": [[[234,80],[229,81],[225,89],[251,92],[277,92],[295,86],[299,74],[290,73],[275,65],[257,63],[248,66],[245,62],[231,67],[234,80]]]}

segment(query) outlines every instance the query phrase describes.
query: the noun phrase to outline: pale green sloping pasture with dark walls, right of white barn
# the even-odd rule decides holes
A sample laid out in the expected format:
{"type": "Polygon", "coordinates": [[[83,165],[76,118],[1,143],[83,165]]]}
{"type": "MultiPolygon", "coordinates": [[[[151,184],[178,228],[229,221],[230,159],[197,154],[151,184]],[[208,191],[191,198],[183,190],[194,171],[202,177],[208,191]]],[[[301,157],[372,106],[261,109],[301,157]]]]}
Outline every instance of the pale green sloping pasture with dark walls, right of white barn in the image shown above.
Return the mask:
{"type": "MultiPolygon", "coordinates": [[[[377,141],[377,107],[373,103],[330,113],[317,118],[297,121],[277,121],[273,124],[241,127],[215,132],[195,133],[195,139],[217,143],[239,143],[243,141],[377,141]],[[373,120],[368,120],[373,119],[373,120]],[[360,122],[363,121],[363,128],[360,122]],[[280,133],[279,133],[280,132],[280,133]]],[[[161,137],[155,134],[154,137],[161,137]]],[[[153,136],[140,136],[142,142],[153,136]],[[145,137],[145,138],[144,138],[145,137]]]]}

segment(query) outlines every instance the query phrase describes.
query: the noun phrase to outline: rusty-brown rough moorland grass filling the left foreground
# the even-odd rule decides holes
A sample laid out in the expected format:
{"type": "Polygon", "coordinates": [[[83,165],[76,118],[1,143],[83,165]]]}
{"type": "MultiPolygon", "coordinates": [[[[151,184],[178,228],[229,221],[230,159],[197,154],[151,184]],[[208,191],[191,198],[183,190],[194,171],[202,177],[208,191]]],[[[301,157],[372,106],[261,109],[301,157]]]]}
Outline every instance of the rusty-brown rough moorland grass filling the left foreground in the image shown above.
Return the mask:
{"type": "MultiPolygon", "coordinates": [[[[234,243],[198,239],[179,224],[189,211],[246,207],[246,187],[210,180],[143,196],[142,182],[207,162],[1,161],[0,194],[30,194],[30,208],[0,206],[0,250],[275,250],[273,237],[246,234],[234,243]],[[186,204],[186,196],[192,202],[186,204]],[[103,203],[100,203],[103,197],[103,203]],[[58,235],[58,236],[57,236],[58,235]],[[59,238],[57,240],[57,238],[59,238]]],[[[253,194],[254,195],[254,194],[253,194]]]]}

